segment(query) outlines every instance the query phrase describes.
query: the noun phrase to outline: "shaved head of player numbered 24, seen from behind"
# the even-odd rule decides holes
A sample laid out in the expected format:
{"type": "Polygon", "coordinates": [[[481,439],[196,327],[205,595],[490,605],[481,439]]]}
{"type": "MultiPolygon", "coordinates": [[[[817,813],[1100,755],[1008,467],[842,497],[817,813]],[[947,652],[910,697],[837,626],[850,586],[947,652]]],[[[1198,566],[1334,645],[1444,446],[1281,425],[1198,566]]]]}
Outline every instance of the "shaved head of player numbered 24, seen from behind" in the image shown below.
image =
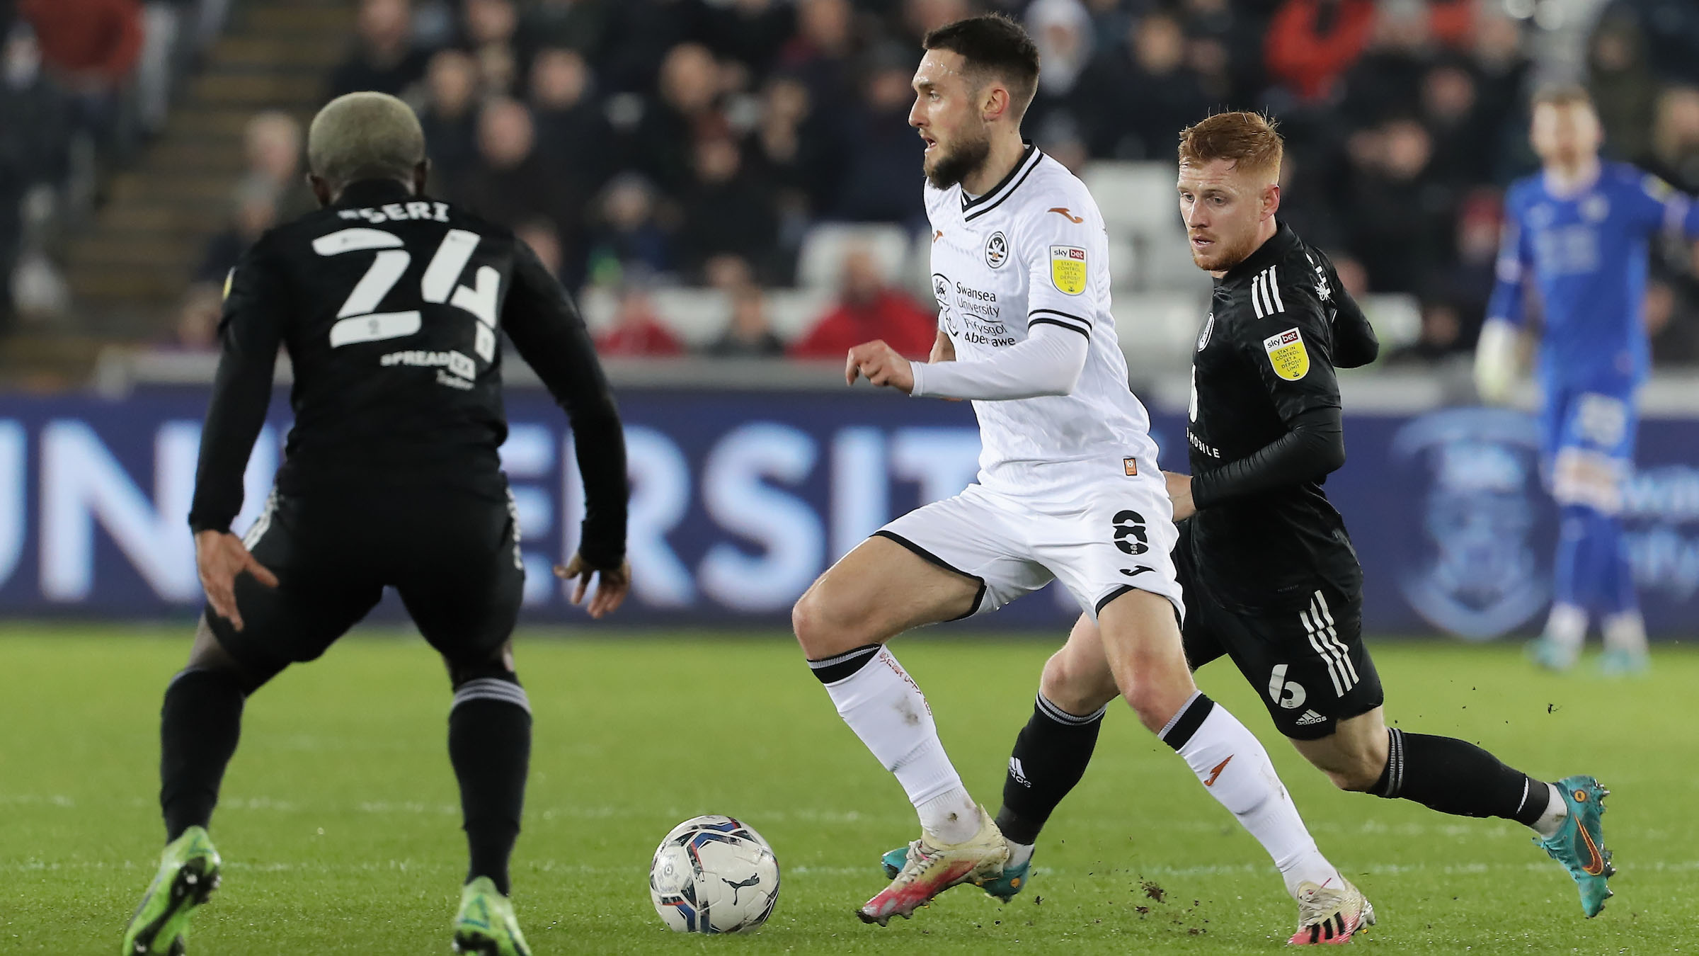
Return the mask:
{"type": "Polygon", "coordinates": [[[425,131],[413,107],[389,94],[336,97],[308,129],[308,168],[331,196],[362,179],[413,184],[423,163],[425,131]]]}

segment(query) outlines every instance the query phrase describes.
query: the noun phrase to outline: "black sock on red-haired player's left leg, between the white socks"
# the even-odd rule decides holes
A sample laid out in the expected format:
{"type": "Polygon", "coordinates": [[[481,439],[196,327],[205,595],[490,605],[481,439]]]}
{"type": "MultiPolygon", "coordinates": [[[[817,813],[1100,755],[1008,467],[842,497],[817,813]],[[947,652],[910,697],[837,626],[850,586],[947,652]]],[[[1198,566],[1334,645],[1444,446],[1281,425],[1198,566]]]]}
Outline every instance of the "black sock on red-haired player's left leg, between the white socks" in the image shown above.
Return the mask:
{"type": "Polygon", "coordinates": [[[1016,844],[1038,842],[1038,832],[1045,828],[1050,813],[1086,776],[1101,728],[1101,708],[1098,713],[1075,716],[1038,694],[1033,720],[1014,738],[1009,771],[1002,781],[997,828],[1004,837],[1016,844]]]}

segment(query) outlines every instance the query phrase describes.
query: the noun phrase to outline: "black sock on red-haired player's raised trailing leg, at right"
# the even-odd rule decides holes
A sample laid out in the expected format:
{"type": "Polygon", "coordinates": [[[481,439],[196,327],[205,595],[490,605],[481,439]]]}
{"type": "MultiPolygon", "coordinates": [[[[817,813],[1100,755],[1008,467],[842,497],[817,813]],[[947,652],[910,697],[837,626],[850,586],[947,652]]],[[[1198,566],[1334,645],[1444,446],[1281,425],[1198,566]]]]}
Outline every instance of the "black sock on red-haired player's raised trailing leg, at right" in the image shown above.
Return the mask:
{"type": "Polygon", "coordinates": [[[1453,817],[1502,817],[1532,827],[1551,788],[1451,737],[1386,731],[1386,769],[1374,796],[1414,800],[1453,817]]]}

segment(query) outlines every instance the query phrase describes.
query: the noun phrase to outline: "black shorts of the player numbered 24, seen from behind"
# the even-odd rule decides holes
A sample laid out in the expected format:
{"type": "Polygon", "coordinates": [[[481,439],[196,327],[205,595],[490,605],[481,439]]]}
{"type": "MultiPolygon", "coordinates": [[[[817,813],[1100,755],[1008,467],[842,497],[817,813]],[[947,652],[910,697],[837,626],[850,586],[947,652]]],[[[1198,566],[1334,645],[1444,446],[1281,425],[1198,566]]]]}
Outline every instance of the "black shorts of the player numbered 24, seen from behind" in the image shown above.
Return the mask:
{"type": "Polygon", "coordinates": [[[511,498],[274,493],[246,543],[279,587],[236,578],[241,631],[211,606],[206,616],[219,645],[262,679],[330,650],[384,587],[450,663],[486,660],[518,621],[525,568],[511,498]]]}

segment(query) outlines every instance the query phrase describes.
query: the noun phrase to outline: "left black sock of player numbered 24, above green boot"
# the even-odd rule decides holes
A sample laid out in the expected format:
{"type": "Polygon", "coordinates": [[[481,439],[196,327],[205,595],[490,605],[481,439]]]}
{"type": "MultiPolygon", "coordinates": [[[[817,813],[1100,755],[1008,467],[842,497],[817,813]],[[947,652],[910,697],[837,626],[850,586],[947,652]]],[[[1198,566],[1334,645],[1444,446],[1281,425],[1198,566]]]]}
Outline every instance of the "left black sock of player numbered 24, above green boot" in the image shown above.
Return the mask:
{"type": "Polygon", "coordinates": [[[233,670],[183,670],[160,708],[160,810],[167,842],[212,822],[224,767],[241,737],[241,677],[233,670]]]}

